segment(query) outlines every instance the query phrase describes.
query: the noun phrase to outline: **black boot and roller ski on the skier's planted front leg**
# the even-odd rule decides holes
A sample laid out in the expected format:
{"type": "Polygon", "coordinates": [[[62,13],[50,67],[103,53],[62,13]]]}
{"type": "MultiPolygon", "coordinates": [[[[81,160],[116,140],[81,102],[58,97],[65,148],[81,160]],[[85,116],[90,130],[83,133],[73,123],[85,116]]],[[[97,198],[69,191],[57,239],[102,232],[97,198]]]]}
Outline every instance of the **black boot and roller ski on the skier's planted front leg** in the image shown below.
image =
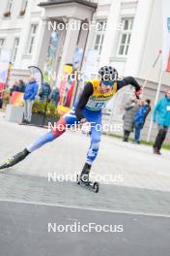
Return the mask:
{"type": "Polygon", "coordinates": [[[85,164],[83,171],[80,176],[77,175],[76,182],[78,185],[85,187],[95,193],[99,192],[99,182],[92,182],[89,180],[91,166],[85,164]]]}

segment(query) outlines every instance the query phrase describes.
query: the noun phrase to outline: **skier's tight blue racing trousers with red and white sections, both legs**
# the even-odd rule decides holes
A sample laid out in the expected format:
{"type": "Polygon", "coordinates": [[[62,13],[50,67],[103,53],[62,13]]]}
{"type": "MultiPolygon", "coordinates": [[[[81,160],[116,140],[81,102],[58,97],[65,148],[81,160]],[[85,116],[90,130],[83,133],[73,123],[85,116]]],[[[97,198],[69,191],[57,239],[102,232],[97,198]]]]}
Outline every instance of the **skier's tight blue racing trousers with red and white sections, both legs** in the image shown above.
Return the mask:
{"type": "MultiPolygon", "coordinates": [[[[95,161],[98,152],[99,152],[99,143],[100,143],[100,137],[102,134],[101,131],[101,111],[99,112],[92,112],[87,109],[83,110],[84,116],[87,119],[87,121],[91,124],[91,131],[90,131],[90,137],[91,137],[91,143],[89,150],[87,152],[87,159],[86,163],[89,165],[92,165],[95,161]]],[[[56,138],[60,137],[62,134],[65,133],[66,128],[71,128],[71,125],[78,124],[78,120],[76,118],[74,109],[71,110],[68,114],[64,115],[56,125],[56,128],[52,131],[49,131],[48,133],[42,135],[38,140],[36,140],[33,144],[30,144],[27,149],[30,152],[35,151],[36,149],[40,148],[43,144],[47,144],[49,142],[52,142],[56,138]]]]}

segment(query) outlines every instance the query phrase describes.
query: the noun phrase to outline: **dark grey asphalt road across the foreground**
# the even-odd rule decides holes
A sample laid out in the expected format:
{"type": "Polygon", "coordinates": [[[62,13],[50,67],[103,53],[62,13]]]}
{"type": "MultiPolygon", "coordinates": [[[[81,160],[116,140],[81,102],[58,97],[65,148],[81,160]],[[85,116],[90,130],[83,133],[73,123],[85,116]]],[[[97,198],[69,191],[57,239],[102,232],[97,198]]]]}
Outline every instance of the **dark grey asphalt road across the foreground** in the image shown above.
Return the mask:
{"type": "Polygon", "coordinates": [[[170,218],[1,202],[0,219],[1,256],[170,255],[170,218]],[[114,228],[66,233],[54,226],[74,223],[114,228]]]}

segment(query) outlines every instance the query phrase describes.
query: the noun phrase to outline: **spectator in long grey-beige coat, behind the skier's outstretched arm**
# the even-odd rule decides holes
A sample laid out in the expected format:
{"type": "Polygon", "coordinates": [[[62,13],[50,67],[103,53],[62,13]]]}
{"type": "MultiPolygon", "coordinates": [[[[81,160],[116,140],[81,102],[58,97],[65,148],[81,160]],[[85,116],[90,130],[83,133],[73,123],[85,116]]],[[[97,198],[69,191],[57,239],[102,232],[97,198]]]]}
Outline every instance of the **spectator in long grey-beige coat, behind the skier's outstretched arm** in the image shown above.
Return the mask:
{"type": "Polygon", "coordinates": [[[139,103],[136,99],[130,99],[125,105],[125,114],[124,114],[124,142],[128,143],[128,137],[133,131],[134,127],[134,114],[139,109],[139,103]]]}

